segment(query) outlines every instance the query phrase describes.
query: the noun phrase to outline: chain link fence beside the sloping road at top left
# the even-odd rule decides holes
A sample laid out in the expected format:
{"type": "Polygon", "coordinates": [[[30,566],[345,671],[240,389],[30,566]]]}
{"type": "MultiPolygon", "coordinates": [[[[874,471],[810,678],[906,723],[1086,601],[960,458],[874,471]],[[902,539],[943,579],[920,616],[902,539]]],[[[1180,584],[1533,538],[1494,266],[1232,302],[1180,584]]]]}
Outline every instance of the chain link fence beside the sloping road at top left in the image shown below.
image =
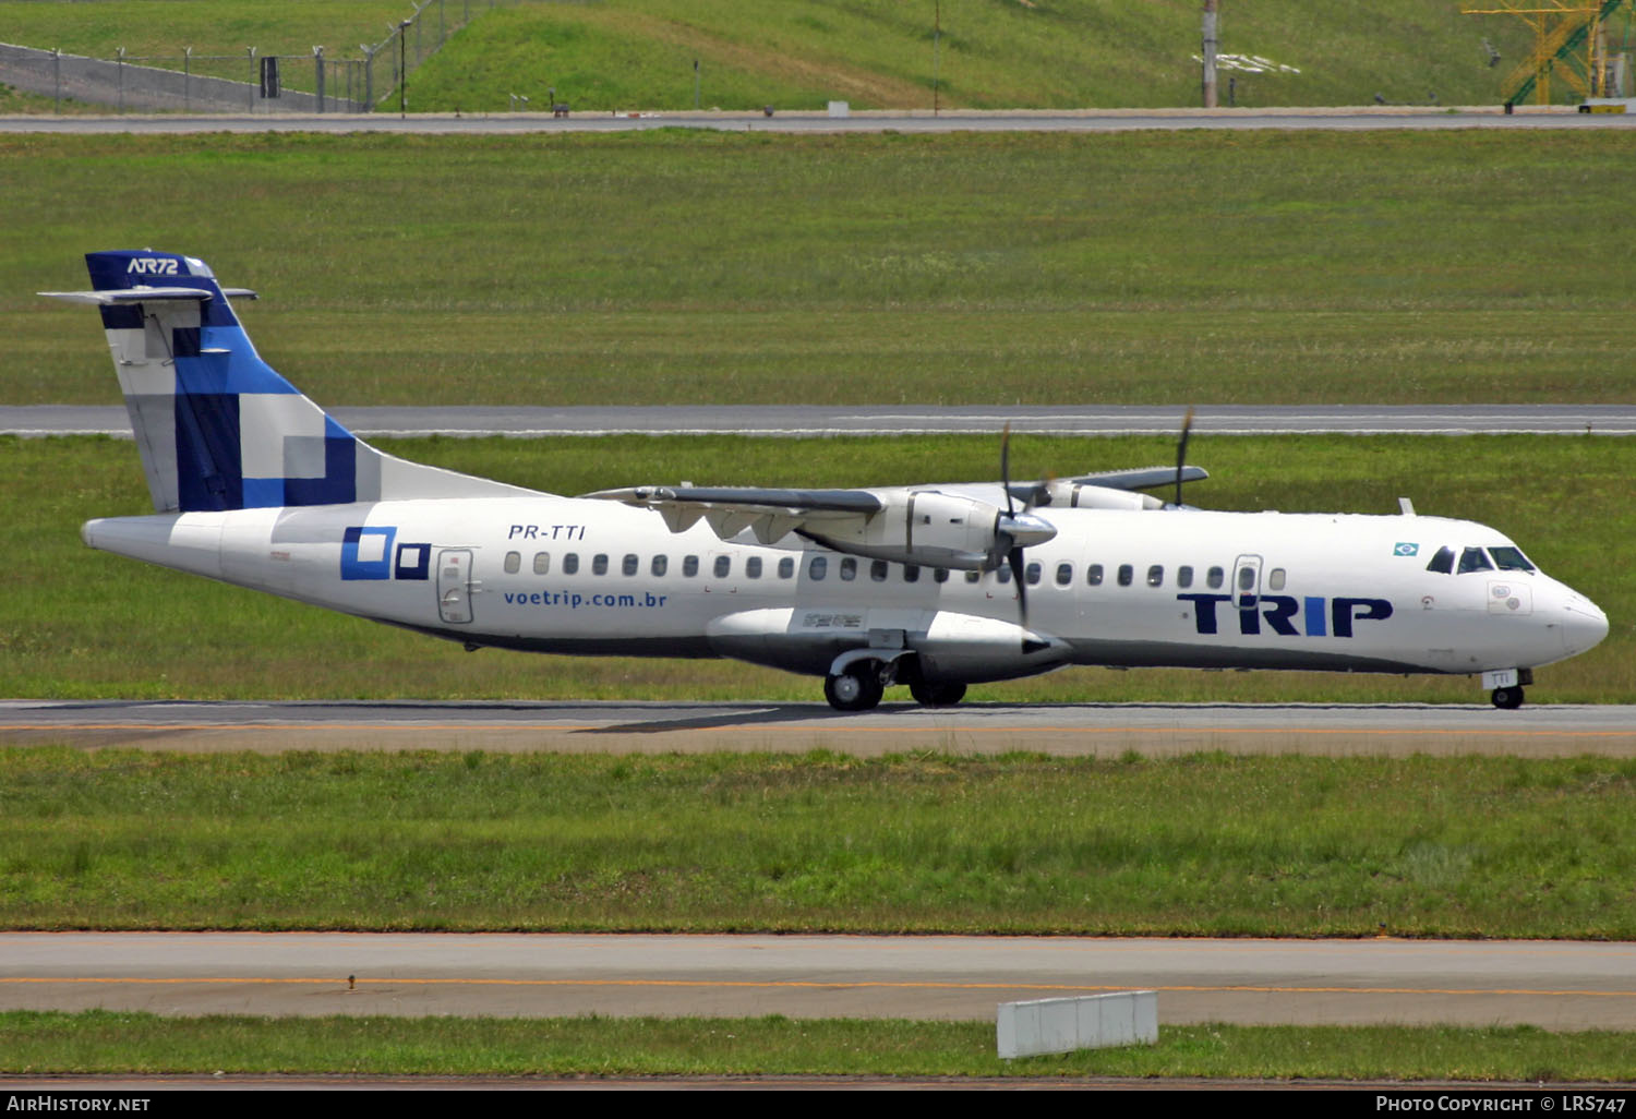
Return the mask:
{"type": "Polygon", "coordinates": [[[54,100],[116,113],[370,113],[473,15],[501,0],[419,0],[363,57],[311,54],[126,54],[92,59],[0,43],[0,82],[54,100]]]}

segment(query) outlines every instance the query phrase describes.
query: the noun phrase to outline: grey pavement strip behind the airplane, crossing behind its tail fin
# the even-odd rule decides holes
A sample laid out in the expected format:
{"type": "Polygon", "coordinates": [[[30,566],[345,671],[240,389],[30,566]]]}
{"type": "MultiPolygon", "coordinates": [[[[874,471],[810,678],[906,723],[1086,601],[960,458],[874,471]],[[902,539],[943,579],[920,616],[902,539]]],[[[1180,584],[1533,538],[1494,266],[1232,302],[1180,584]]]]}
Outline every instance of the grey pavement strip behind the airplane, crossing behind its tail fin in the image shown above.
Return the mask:
{"type": "MultiPolygon", "coordinates": [[[[378,435],[993,435],[1005,424],[1037,435],[1175,435],[1183,407],[1152,406],[654,406],[654,407],[335,407],[365,438],[378,435]]],[[[1202,406],[1201,435],[1636,435],[1636,404],[1202,406]]],[[[0,435],[131,438],[124,406],[0,406],[0,435]]]]}

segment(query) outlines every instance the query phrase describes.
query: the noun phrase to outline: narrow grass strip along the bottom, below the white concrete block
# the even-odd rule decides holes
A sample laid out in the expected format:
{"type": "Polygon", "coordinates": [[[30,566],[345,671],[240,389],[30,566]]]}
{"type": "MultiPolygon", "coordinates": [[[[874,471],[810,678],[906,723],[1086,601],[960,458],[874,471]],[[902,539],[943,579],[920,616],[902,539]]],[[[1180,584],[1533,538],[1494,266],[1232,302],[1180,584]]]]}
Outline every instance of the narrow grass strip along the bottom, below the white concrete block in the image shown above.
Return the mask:
{"type": "Polygon", "coordinates": [[[1003,1062],[991,1022],[0,1014],[3,1073],[510,1076],[1253,1076],[1615,1081],[1636,1036],[1487,1027],[1166,1026],[1158,1045],[1003,1062]]]}

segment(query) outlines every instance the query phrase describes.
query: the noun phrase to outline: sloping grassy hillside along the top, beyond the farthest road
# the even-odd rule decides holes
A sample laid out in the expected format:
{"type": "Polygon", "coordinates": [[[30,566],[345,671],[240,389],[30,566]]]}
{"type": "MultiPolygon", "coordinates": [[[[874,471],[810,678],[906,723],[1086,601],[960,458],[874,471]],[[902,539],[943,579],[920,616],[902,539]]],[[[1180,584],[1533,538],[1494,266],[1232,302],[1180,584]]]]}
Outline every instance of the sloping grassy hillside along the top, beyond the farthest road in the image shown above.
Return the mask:
{"type": "MultiPolygon", "coordinates": [[[[322,43],[330,57],[362,57],[412,11],[409,0],[103,0],[7,5],[7,41],[111,57],[232,56],[195,64],[245,79],[237,62],[258,54],[304,56],[322,43]]],[[[453,23],[466,11],[447,0],[453,23]]],[[[775,0],[746,18],[733,0],[609,0],[597,5],[471,0],[473,23],[411,74],[414,111],[494,113],[510,93],[545,108],[548,88],[576,110],[681,110],[694,105],[694,59],[705,108],[821,108],[831,98],[859,108],[933,106],[933,5],[775,0]]],[[[946,108],[1168,106],[1199,103],[1198,0],[960,0],[942,5],[936,79],[946,108]]],[[[427,10],[437,25],[437,5],[427,10]]],[[[1515,20],[1461,16],[1458,5],[1376,0],[1309,5],[1258,0],[1224,13],[1224,52],[1271,56],[1299,74],[1229,74],[1237,103],[1497,105],[1500,82],[1528,46],[1515,20]],[[1505,62],[1489,67],[1482,41],[1505,62]]],[[[425,41],[427,47],[430,39],[425,41]]],[[[411,39],[414,47],[414,39],[411,39]]],[[[214,70],[209,70],[214,72],[214,70]]],[[[376,95],[398,105],[380,79],[376,95]]],[[[293,67],[291,88],[311,74],[293,67]]],[[[47,105],[49,108],[49,105],[47,105]]]]}

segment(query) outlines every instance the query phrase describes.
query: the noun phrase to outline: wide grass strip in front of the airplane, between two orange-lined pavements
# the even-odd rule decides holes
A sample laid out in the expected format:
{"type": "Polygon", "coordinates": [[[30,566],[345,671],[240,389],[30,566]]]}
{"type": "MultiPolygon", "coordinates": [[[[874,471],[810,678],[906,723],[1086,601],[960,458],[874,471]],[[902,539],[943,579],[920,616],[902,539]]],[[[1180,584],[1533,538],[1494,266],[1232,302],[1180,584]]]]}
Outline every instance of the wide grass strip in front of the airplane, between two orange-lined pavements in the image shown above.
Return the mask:
{"type": "Polygon", "coordinates": [[[0,777],[13,929],[1636,936],[1628,759],[11,748],[0,777]]]}

